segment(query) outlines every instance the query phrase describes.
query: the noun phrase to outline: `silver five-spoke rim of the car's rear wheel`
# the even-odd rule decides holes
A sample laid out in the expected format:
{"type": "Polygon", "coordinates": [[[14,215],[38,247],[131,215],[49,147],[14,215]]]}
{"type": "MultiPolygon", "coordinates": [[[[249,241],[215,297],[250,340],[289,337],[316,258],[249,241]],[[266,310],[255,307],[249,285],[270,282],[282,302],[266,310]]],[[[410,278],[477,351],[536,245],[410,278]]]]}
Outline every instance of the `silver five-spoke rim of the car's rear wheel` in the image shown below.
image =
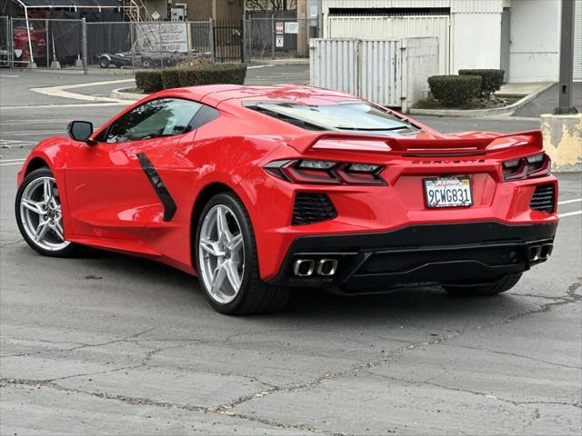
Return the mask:
{"type": "Polygon", "coordinates": [[[198,241],[200,275],[216,302],[232,302],[245,272],[245,242],[235,213],[217,204],[206,213],[198,241]]]}

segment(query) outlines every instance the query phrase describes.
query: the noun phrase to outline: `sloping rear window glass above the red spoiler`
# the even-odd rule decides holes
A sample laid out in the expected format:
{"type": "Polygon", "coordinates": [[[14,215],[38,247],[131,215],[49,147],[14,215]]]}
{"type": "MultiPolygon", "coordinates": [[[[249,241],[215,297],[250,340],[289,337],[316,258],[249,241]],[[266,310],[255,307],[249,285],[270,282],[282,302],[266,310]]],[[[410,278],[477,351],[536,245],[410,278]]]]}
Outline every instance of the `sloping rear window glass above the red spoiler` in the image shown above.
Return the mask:
{"type": "Polygon", "coordinates": [[[296,104],[256,103],[252,109],[275,116],[307,130],[382,133],[393,130],[416,131],[394,114],[366,103],[296,104]],[[306,124],[306,125],[302,125],[306,124]],[[315,128],[314,128],[315,127],[315,128]]]}

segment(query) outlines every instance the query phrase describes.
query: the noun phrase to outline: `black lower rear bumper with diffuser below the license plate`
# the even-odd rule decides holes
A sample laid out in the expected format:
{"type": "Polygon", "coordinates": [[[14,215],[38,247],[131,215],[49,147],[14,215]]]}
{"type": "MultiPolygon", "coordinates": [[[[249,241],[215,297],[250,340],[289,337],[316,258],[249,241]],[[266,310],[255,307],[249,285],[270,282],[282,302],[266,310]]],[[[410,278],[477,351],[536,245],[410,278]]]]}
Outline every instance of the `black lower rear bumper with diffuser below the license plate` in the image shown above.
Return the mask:
{"type": "Polygon", "coordinates": [[[556,229],[557,223],[440,223],[383,233],[299,237],[270,282],[344,292],[381,291],[413,283],[493,282],[544,262],[556,229]],[[297,276],[297,260],[313,260],[317,265],[322,259],[336,260],[334,274],[318,274],[315,268],[309,275],[297,276]]]}

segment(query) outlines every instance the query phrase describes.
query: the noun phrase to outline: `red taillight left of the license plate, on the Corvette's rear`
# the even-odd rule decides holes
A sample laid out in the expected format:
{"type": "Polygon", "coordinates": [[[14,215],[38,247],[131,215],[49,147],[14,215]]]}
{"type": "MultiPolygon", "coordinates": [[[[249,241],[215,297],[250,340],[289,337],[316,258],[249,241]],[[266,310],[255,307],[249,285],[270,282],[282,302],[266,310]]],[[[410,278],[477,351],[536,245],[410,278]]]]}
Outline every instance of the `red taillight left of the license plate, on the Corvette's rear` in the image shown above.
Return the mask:
{"type": "Polygon", "coordinates": [[[385,185],[382,165],[293,159],[267,163],[269,174],[292,183],[385,185]]]}

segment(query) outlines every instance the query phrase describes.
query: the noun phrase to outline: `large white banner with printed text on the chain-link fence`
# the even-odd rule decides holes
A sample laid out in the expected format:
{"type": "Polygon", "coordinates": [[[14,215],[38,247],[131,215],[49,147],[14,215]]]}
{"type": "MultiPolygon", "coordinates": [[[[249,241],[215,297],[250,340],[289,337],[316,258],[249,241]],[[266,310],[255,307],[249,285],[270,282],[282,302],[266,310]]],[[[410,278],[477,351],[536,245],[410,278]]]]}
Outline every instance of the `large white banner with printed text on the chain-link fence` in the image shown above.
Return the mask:
{"type": "Polygon", "coordinates": [[[186,23],[140,23],[137,41],[145,52],[188,52],[186,23]]]}

